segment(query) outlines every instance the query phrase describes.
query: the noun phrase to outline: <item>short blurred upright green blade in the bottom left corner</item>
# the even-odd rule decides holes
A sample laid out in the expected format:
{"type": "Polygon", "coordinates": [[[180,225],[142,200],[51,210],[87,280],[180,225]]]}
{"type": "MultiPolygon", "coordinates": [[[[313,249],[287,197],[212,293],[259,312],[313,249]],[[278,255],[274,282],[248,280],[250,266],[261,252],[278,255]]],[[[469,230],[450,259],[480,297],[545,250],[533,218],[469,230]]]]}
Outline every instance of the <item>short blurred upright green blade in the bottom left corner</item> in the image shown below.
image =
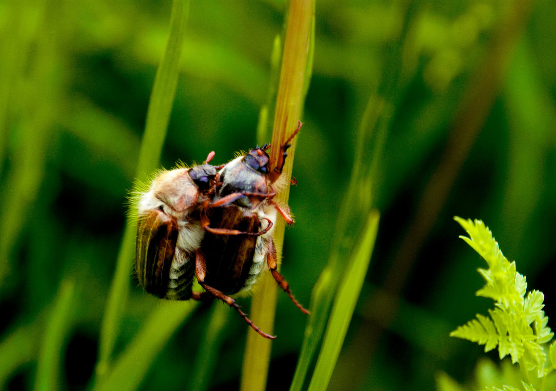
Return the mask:
{"type": "Polygon", "coordinates": [[[62,281],[59,287],[38,355],[35,391],[55,391],[58,389],[62,345],[69,328],[70,318],[73,316],[74,287],[75,283],[73,281],[62,281]]]}

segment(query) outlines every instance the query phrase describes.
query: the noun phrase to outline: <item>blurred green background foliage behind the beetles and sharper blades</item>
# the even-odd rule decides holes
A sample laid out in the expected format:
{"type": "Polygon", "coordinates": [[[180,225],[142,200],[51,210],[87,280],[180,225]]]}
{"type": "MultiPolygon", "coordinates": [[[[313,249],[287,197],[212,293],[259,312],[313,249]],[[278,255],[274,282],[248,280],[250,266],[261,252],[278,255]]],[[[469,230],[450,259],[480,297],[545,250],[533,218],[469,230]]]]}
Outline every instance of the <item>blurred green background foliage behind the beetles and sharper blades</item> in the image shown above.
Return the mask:
{"type": "MultiPolygon", "coordinates": [[[[90,387],[170,7],[0,2],[1,389],[36,388],[45,335],[62,347],[50,369],[59,389],[90,387]],[[67,302],[54,306],[58,292],[67,302]],[[47,333],[64,305],[71,316],[47,333]]],[[[482,348],[448,333],[491,303],[474,297],[483,261],[453,215],[489,225],[554,318],[555,20],[549,0],[317,1],[282,265],[301,303],[330,252],[369,96],[387,107],[378,239],[330,390],[430,390],[440,370],[473,377],[482,348]]],[[[278,0],[191,2],[163,167],[213,150],[221,164],[255,146],[283,23],[278,0]]],[[[158,305],[131,275],[130,284],[116,354],[158,305]]],[[[195,310],[140,389],[195,389],[215,306],[224,304],[195,310]]],[[[289,388],[305,322],[280,294],[269,390],[289,388]]],[[[209,389],[239,387],[247,332],[230,310],[209,389]]]]}

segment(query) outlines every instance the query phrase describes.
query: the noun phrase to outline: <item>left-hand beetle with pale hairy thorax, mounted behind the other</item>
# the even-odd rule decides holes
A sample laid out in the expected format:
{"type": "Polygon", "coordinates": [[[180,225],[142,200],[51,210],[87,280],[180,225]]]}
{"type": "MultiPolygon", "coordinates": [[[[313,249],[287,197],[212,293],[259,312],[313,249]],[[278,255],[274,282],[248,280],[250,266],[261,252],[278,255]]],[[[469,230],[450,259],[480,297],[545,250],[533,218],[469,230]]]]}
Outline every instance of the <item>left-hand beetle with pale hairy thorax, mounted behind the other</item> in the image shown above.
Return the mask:
{"type": "Polygon", "coordinates": [[[138,201],[135,272],[146,292],[171,300],[192,292],[195,251],[205,230],[200,210],[214,197],[217,168],[209,162],[160,172],[138,201]]]}

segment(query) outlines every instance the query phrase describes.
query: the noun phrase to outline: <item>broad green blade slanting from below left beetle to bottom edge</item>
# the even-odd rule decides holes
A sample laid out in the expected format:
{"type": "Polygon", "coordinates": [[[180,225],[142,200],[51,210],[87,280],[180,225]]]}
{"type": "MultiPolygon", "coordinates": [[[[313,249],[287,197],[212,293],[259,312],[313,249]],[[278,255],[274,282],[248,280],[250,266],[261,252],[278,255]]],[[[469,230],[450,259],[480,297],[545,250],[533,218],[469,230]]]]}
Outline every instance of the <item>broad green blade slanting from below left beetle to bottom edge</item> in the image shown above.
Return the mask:
{"type": "Polygon", "coordinates": [[[93,391],[137,389],[157,354],[195,308],[197,303],[161,301],[118,357],[110,373],[95,385],[93,391]]]}

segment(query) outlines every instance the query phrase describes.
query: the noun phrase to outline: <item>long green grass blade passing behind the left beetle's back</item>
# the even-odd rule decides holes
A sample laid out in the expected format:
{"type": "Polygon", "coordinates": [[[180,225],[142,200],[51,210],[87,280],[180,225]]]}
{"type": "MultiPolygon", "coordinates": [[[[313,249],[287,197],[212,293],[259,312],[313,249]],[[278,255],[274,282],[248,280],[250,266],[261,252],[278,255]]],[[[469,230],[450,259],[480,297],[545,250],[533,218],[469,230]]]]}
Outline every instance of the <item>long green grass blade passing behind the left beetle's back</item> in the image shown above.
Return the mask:
{"type": "MultiPolygon", "coordinates": [[[[176,94],[180,70],[180,58],[185,39],[185,27],[189,0],[174,0],[170,17],[170,33],[166,49],[158,66],[155,83],[148,105],[145,133],[137,163],[136,178],[144,181],[158,166],[162,144],[166,138],[168,121],[176,94]]],[[[102,319],[100,352],[96,367],[97,380],[108,371],[112,351],[116,343],[129,293],[133,248],[135,243],[135,219],[127,224],[116,262],[116,271],[108,293],[105,314],[102,319]]]]}

